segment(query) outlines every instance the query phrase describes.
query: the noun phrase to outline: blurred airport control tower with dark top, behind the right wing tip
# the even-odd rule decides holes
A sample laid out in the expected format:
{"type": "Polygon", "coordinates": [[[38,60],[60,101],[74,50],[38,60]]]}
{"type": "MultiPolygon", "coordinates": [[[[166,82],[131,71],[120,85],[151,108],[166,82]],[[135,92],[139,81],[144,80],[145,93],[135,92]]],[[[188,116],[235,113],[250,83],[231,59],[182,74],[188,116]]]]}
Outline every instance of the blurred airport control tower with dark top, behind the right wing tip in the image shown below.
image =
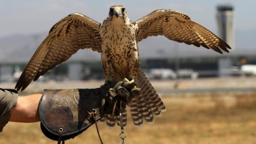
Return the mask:
{"type": "Polygon", "coordinates": [[[234,49],[234,14],[231,4],[217,6],[217,23],[221,39],[234,49]]]}

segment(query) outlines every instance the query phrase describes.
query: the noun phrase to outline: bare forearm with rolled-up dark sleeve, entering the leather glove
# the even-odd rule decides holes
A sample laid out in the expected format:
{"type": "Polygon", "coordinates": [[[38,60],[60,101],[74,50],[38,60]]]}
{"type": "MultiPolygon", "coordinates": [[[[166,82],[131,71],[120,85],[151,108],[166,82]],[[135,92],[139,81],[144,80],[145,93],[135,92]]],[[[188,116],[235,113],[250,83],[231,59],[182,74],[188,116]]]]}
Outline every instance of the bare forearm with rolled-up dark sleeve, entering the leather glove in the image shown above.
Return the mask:
{"type": "Polygon", "coordinates": [[[18,97],[13,89],[0,88],[0,131],[12,122],[38,122],[38,104],[42,94],[18,97]]]}

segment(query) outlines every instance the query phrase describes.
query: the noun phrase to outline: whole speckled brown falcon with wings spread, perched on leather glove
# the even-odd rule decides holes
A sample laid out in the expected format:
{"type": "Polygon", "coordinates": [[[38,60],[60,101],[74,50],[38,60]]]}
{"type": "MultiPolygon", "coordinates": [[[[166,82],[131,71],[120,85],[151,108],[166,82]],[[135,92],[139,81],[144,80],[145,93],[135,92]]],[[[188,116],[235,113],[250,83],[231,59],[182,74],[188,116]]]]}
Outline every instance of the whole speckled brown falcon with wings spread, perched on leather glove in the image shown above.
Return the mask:
{"type": "MultiPolygon", "coordinates": [[[[72,13],[54,24],[49,35],[41,43],[15,88],[24,90],[31,81],[55,66],[67,61],[79,49],[92,49],[101,54],[105,83],[135,80],[141,94],[132,97],[130,106],[134,125],[140,127],[143,120],[152,124],[154,115],[166,111],[162,100],[139,67],[138,42],[149,37],[163,35],[169,40],[205,47],[222,54],[231,49],[226,42],[189,16],[174,10],[158,9],[132,22],[124,6],[114,5],[109,16],[100,24],[81,13],[72,13]]],[[[124,125],[127,111],[122,111],[124,125]]],[[[120,125],[118,117],[105,115],[109,127],[120,125]]]]}

